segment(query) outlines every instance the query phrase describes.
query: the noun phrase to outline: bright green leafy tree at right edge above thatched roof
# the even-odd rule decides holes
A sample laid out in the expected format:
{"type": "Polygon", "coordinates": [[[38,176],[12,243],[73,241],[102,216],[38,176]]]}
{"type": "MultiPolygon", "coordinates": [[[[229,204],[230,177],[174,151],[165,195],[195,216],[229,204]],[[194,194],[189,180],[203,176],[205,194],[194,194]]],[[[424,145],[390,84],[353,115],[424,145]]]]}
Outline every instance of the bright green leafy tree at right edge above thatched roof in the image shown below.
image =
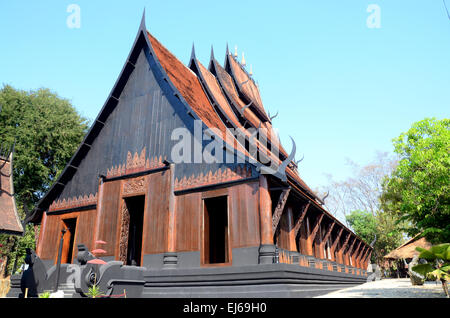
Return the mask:
{"type": "Polygon", "coordinates": [[[411,223],[410,235],[450,241],[450,120],[426,118],[393,140],[399,163],[383,185],[385,211],[411,223]]]}

